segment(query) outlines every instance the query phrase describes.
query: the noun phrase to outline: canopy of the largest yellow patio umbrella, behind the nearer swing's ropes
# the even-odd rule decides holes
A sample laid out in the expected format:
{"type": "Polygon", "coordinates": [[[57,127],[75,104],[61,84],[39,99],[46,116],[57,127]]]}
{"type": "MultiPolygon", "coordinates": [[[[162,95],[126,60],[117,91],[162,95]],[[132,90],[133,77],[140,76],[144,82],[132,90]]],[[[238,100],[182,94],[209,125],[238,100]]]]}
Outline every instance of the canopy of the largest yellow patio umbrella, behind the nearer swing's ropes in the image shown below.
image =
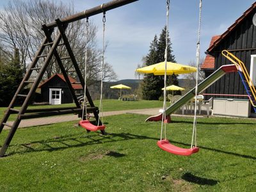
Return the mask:
{"type": "MultiPolygon", "coordinates": [[[[165,64],[164,62],[156,63],[154,65],[149,65],[147,67],[137,68],[136,72],[144,74],[154,74],[155,76],[164,76],[165,64]]],[[[189,74],[196,72],[196,67],[191,67],[188,65],[182,65],[179,63],[167,62],[166,74],[167,75],[179,75],[179,74],[189,74]]]]}

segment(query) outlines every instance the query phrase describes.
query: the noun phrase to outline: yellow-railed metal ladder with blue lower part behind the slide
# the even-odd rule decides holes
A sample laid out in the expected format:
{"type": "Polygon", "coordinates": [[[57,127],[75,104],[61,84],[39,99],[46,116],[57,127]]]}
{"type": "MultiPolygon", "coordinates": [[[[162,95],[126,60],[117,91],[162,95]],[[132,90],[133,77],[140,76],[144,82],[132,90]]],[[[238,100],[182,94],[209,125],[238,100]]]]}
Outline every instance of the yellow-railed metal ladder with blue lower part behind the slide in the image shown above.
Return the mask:
{"type": "Polygon", "coordinates": [[[254,112],[256,113],[256,90],[244,63],[241,60],[239,60],[236,56],[234,56],[234,54],[228,52],[227,50],[223,50],[221,54],[225,56],[225,58],[227,58],[228,60],[232,61],[234,65],[236,65],[239,76],[241,77],[242,83],[248,95],[248,98],[252,104],[254,112]]]}

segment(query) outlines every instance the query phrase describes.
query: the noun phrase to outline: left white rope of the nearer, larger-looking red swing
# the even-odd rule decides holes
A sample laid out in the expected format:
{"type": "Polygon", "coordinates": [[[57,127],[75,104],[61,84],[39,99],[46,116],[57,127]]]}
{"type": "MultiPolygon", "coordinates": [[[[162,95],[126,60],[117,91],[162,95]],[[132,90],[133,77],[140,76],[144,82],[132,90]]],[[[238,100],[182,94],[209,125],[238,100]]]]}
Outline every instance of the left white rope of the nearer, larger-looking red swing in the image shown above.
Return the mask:
{"type": "Polygon", "coordinates": [[[167,58],[168,58],[168,29],[169,29],[169,10],[170,10],[170,0],[166,1],[166,40],[165,40],[165,51],[164,51],[164,103],[163,103],[163,116],[162,116],[162,124],[161,124],[161,138],[163,138],[163,125],[164,125],[164,139],[166,140],[166,70],[167,70],[167,58]]]}

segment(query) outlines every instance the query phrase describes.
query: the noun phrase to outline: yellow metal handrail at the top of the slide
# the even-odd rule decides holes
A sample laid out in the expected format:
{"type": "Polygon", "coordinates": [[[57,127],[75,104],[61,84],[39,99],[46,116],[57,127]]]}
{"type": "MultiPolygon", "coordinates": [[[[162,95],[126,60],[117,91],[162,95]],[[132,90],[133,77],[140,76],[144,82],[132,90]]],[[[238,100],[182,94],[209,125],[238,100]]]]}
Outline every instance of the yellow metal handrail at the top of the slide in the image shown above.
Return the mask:
{"type": "MultiPolygon", "coordinates": [[[[227,50],[221,51],[221,54],[223,56],[225,56],[225,58],[227,58],[228,60],[232,61],[232,63],[234,63],[236,65],[238,70],[243,72],[246,82],[252,92],[253,98],[254,98],[254,100],[256,100],[256,90],[255,90],[255,87],[253,86],[252,79],[250,78],[243,61],[239,60],[236,56],[234,56],[234,54],[232,54],[231,52],[228,52],[227,50]]],[[[250,99],[252,106],[256,107],[256,104],[253,103],[252,98],[249,97],[249,99],[250,99]]]]}

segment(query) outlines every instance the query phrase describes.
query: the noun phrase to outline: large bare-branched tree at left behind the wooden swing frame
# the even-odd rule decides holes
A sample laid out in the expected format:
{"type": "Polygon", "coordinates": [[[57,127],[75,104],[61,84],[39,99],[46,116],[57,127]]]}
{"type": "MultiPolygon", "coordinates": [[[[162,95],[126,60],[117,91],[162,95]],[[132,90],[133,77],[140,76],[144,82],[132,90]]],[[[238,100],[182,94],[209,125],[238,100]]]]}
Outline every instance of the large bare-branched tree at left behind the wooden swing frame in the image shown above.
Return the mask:
{"type": "MultiPolygon", "coordinates": [[[[4,10],[0,11],[0,40],[3,42],[6,50],[12,54],[14,47],[20,51],[20,64],[23,71],[26,72],[28,65],[33,60],[35,52],[42,43],[44,38],[44,31],[42,31],[42,24],[52,22],[52,20],[67,17],[74,14],[73,4],[63,4],[61,1],[51,0],[28,0],[20,1],[13,0],[8,3],[4,10]]],[[[93,79],[91,83],[99,81],[99,74],[101,72],[101,54],[102,51],[97,48],[96,33],[97,27],[93,22],[90,22],[88,42],[84,37],[84,21],[79,20],[72,22],[66,29],[69,43],[76,56],[77,63],[81,69],[84,68],[84,49],[86,44],[90,49],[88,60],[90,67],[88,67],[88,79],[93,79]]],[[[52,38],[56,37],[58,31],[55,30],[52,38]]],[[[68,56],[65,46],[58,47],[58,53],[61,58],[68,56]]],[[[43,54],[47,54],[45,49],[43,54]]],[[[42,65],[44,60],[40,60],[38,65],[42,65]]],[[[56,60],[52,58],[51,65],[47,68],[45,78],[49,78],[54,73],[60,73],[60,68],[56,65],[56,60]]],[[[70,60],[63,60],[63,65],[66,70],[74,70],[70,60]]],[[[40,67],[40,66],[38,66],[40,67]]],[[[70,76],[75,74],[70,73],[70,76]]],[[[106,65],[104,70],[104,79],[111,80],[116,77],[113,68],[106,65]]],[[[89,84],[88,84],[89,85],[89,84]]]]}

